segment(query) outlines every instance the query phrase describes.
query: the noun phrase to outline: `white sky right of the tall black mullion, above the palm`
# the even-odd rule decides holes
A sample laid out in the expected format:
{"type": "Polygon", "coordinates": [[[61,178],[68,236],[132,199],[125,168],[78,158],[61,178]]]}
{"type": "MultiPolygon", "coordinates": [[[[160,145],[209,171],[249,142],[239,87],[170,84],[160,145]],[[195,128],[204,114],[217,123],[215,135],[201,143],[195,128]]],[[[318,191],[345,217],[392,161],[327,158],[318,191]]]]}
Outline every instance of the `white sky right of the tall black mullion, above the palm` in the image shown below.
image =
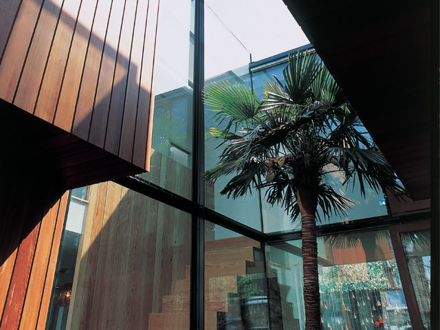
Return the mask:
{"type": "Polygon", "coordinates": [[[283,0],[205,3],[206,78],[309,43],[283,0]]]}

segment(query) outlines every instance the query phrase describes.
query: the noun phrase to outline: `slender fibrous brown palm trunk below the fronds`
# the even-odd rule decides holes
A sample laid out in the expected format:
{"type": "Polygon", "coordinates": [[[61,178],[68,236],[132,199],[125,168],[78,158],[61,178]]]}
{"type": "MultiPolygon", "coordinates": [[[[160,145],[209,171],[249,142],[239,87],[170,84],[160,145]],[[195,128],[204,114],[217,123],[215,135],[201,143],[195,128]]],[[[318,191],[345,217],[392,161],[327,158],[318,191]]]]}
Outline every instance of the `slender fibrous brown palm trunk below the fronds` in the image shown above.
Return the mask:
{"type": "Polygon", "coordinates": [[[320,295],[318,281],[318,245],[316,244],[316,190],[299,188],[298,206],[301,212],[303,234],[303,293],[305,307],[305,330],[321,327],[320,295]]]}

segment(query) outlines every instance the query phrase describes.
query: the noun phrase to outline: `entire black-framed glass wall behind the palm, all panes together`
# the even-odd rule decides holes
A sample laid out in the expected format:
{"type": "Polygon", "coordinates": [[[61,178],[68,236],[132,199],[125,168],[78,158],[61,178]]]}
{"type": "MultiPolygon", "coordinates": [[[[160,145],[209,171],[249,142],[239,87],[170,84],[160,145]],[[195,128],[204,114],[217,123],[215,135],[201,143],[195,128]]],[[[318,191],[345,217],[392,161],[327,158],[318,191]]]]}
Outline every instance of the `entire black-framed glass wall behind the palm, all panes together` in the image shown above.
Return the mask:
{"type": "MultiPolygon", "coordinates": [[[[270,5],[263,0],[206,0],[204,6],[206,85],[241,84],[262,98],[263,85],[274,79],[273,74],[283,78],[287,53],[276,55],[308,43],[296,34],[299,27],[282,0],[270,5]]],[[[164,188],[164,194],[174,192],[187,199],[195,188],[191,186],[194,15],[194,0],[161,0],[154,152],[150,173],[140,175],[164,188]]],[[[224,148],[209,134],[212,126],[225,127],[225,122],[215,122],[215,110],[203,109],[206,169],[217,164],[224,148]]],[[[231,177],[206,182],[207,208],[261,231],[252,236],[261,234],[261,241],[270,239],[263,232],[300,230],[300,221],[292,223],[283,208],[265,202],[264,192],[252,190],[252,195],[237,200],[221,195],[231,177]]],[[[323,223],[342,225],[387,214],[382,194],[367,188],[364,199],[357,186],[343,191],[342,179],[329,175],[327,183],[353,206],[347,217],[323,223]]],[[[203,206],[181,201],[193,212],[188,214],[177,210],[173,201],[160,203],[113,182],[72,191],[47,329],[189,329],[190,290],[201,285],[190,287],[191,217],[198,217],[203,206]]],[[[237,231],[247,232],[235,225],[237,231]]],[[[205,329],[304,329],[300,240],[264,245],[210,221],[205,221],[203,235],[205,329]]],[[[429,327],[426,233],[405,235],[401,241],[412,285],[429,327]]],[[[318,269],[323,329],[410,329],[387,230],[319,237],[318,269]]]]}

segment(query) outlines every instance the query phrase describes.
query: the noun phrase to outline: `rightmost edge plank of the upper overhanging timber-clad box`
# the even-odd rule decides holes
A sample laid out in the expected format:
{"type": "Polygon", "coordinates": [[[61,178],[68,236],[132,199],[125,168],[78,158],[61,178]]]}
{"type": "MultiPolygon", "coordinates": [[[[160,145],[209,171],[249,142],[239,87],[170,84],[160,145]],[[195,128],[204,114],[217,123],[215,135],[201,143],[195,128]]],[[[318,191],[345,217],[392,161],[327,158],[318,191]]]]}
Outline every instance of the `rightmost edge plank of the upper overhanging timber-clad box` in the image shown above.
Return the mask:
{"type": "MultiPolygon", "coordinates": [[[[139,106],[135,126],[135,141],[133,148],[133,164],[142,168],[149,168],[150,159],[146,157],[147,137],[151,133],[153,120],[154,98],[151,96],[153,84],[153,61],[155,54],[157,16],[159,14],[159,0],[148,2],[148,17],[146,22],[146,36],[144,39],[144,54],[139,89],[139,106]],[[150,122],[151,121],[151,122],[150,122]],[[148,125],[146,123],[148,122],[148,125]],[[148,166],[146,162],[148,161],[148,166]]],[[[150,139],[151,140],[151,139],[150,139]]]]}

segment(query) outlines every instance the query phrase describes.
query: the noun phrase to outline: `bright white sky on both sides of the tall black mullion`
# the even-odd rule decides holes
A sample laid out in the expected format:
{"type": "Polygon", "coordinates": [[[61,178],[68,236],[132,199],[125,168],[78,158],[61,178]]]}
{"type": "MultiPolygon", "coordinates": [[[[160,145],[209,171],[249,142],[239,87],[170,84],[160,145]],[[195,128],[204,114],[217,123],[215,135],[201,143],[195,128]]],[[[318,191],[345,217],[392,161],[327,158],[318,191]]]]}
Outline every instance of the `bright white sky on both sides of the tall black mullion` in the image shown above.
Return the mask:
{"type": "MultiPolygon", "coordinates": [[[[283,0],[205,0],[205,78],[309,41],[283,0]]],[[[188,85],[190,1],[162,0],[156,48],[156,93],[188,85]]]]}

